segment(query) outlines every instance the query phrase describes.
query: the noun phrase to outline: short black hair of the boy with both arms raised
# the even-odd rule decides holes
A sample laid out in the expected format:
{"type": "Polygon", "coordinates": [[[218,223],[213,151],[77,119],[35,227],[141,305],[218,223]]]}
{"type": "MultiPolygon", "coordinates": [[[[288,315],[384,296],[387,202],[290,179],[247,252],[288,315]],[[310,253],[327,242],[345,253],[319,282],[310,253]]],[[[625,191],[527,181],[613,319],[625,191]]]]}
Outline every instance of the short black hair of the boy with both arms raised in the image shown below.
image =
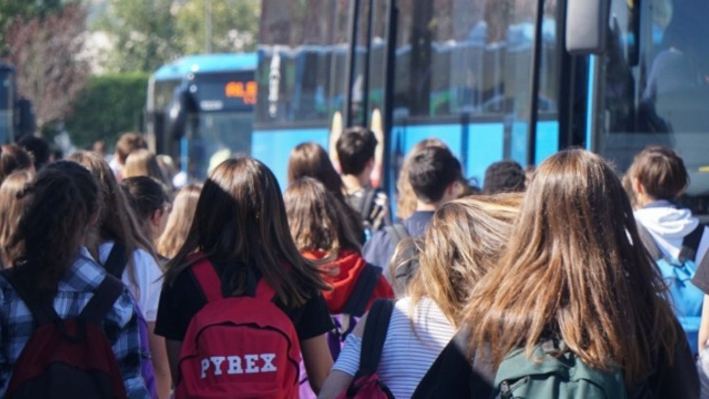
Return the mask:
{"type": "Polygon", "coordinates": [[[347,128],[337,139],[337,157],[340,159],[342,174],[360,174],[367,162],[374,158],[376,137],[372,130],[356,126],[347,128]]]}

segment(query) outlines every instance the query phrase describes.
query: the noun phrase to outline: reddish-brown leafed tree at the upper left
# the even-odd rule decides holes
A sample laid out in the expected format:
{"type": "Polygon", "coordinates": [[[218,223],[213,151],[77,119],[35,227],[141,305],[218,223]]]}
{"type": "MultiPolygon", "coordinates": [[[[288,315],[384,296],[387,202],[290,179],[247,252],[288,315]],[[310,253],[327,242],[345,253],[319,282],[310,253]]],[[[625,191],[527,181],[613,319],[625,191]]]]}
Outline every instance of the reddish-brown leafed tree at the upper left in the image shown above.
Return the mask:
{"type": "Polygon", "coordinates": [[[86,10],[70,4],[47,16],[14,18],[6,29],[6,61],[17,70],[18,91],[33,103],[39,131],[67,117],[86,83],[85,24],[86,10]]]}

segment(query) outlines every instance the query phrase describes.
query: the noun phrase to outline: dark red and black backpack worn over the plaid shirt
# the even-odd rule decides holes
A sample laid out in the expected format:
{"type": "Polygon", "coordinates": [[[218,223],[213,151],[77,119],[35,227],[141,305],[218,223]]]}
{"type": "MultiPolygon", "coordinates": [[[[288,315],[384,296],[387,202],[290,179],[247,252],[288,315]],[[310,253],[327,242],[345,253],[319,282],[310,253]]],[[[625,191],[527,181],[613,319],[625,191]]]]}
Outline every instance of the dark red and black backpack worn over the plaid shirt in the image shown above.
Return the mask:
{"type": "Polygon", "coordinates": [[[106,276],[75,318],[62,318],[54,298],[40,298],[16,277],[1,271],[30,309],[35,331],[13,367],[5,398],[125,398],[121,369],[101,323],[123,292],[106,276]]]}

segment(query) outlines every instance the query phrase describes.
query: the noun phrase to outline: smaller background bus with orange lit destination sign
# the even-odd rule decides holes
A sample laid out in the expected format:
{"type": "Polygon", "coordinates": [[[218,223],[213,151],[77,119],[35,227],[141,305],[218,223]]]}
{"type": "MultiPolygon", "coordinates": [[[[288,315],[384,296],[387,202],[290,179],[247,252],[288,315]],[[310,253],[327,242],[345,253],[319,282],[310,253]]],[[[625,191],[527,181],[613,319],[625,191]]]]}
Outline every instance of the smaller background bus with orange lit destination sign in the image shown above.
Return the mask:
{"type": "Polygon", "coordinates": [[[250,152],[256,55],[191,55],[164,65],[147,89],[147,139],[190,180],[235,152],[250,152]]]}

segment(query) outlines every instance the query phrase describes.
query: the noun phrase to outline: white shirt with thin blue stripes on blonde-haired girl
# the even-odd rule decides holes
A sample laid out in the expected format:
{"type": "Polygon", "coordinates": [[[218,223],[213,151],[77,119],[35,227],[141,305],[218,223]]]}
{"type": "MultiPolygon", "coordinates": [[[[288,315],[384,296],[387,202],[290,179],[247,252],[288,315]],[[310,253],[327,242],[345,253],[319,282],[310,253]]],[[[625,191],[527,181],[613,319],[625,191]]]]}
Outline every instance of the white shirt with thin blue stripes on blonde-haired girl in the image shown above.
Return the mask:
{"type": "MultiPolygon", "coordinates": [[[[376,371],[394,398],[411,398],[454,334],[454,328],[433,300],[423,298],[413,309],[410,298],[396,301],[376,371]]],[[[350,334],[333,369],[354,376],[361,350],[362,339],[350,334]]]]}

